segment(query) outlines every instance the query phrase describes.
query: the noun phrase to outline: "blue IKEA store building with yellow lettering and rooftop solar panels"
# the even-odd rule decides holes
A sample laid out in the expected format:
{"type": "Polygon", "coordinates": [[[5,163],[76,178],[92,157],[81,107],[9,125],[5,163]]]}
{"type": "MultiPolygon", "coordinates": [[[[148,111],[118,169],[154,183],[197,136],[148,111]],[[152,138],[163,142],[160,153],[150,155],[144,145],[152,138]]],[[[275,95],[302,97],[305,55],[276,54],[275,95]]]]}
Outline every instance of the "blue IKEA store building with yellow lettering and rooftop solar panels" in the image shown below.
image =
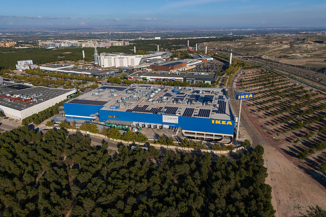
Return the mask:
{"type": "Polygon", "coordinates": [[[98,88],[93,92],[69,100],[64,103],[66,118],[97,119],[101,123],[125,121],[140,127],[145,125],[147,128],[153,128],[156,126],[154,128],[157,129],[159,129],[158,126],[179,128],[184,136],[200,139],[221,139],[223,136],[233,136],[235,121],[228,99],[223,92],[224,89],[206,88],[209,89],[209,92],[205,88],[200,88],[201,91],[198,90],[199,88],[190,89],[190,91],[180,88],[178,89],[180,91],[176,91],[175,87],[161,85],[159,85],[160,87],[152,85],[154,86],[152,89],[140,86],[146,85],[133,87],[133,93],[127,93],[130,88],[117,91],[110,88],[104,90],[98,88]],[[137,92],[138,88],[143,89],[141,93],[147,91],[148,98],[153,101],[143,98],[139,98],[137,101],[137,93],[140,93],[140,91],[137,92]],[[215,90],[218,91],[213,92],[215,90]],[[97,93],[96,91],[101,97],[94,94],[97,93]],[[182,94],[183,92],[184,94],[182,94]],[[169,93],[170,98],[164,97],[169,93]],[[212,106],[215,102],[217,103],[216,107],[212,106]],[[141,110],[137,111],[138,108],[141,110]],[[170,108],[175,109],[170,112],[170,108]]]}

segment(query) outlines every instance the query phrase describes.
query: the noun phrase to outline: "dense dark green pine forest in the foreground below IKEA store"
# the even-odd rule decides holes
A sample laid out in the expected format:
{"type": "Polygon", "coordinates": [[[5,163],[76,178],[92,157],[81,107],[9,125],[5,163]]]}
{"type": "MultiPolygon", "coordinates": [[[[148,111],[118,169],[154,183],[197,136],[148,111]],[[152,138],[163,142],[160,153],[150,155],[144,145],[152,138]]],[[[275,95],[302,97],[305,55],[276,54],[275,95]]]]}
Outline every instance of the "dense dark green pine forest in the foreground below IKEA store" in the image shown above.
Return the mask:
{"type": "Polygon", "coordinates": [[[1,216],[274,216],[264,149],[228,162],[23,126],[0,135],[1,216]]]}

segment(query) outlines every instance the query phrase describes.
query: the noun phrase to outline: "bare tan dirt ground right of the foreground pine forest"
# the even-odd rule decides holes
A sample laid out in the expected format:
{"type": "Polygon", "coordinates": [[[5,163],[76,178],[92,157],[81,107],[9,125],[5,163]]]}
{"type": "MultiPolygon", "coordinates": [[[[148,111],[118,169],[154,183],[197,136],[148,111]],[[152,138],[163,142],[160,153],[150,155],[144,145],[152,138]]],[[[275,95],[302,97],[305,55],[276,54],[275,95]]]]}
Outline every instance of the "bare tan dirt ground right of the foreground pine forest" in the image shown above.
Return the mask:
{"type": "Polygon", "coordinates": [[[326,193],[309,180],[281,153],[269,145],[264,160],[268,169],[265,183],[272,186],[272,204],[276,217],[294,217],[306,214],[309,206],[326,209],[326,193]]]}

